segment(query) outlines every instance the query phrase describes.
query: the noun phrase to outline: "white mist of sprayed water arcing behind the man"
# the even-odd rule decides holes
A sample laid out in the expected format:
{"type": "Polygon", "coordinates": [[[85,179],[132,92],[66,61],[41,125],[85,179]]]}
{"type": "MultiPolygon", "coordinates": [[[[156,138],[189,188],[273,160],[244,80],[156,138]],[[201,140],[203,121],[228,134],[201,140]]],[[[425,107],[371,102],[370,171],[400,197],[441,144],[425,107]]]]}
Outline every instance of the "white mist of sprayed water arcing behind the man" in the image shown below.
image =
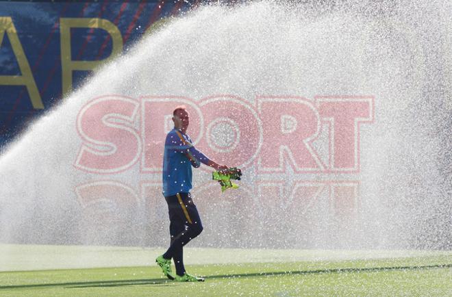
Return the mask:
{"type": "Polygon", "coordinates": [[[144,175],[139,164],[108,176],[73,166],[81,146],[76,117],[95,97],[234,94],[254,105],[257,94],[370,94],[375,120],[360,132],[360,173],[289,169],[262,177],[251,166],[241,190],[221,196],[208,173],[197,171],[195,185],[207,183],[193,192],[205,231],[190,245],[450,249],[451,11],[445,0],[263,1],[207,5],[169,22],[33,122],[1,155],[0,241],[167,244],[162,196],[129,201],[103,193],[87,204],[75,193],[77,185],[105,179],[134,189],[143,179],[160,183],[160,173],[144,175]],[[284,194],[259,194],[253,185],[262,178],[288,188],[300,179],[359,181],[356,214],[334,216],[327,196],[297,205],[284,194]]]}

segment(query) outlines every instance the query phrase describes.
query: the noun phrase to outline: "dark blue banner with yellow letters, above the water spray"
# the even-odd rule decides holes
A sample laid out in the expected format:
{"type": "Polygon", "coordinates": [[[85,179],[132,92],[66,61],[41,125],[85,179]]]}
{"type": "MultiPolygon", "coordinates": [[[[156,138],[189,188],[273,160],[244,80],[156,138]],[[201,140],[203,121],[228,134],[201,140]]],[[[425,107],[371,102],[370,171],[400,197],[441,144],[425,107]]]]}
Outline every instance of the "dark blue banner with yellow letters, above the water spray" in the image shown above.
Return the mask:
{"type": "Polygon", "coordinates": [[[162,18],[197,1],[2,1],[0,147],[162,18]]]}

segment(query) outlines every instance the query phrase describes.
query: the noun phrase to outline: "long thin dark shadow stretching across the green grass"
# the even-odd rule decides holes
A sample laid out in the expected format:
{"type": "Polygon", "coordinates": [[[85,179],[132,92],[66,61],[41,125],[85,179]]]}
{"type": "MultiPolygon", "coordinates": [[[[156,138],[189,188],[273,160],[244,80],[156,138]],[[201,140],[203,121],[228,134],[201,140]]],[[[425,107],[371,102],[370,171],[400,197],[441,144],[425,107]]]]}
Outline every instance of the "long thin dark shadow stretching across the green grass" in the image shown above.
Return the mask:
{"type": "MultiPolygon", "coordinates": [[[[205,279],[234,279],[261,276],[283,276],[297,274],[327,274],[327,273],[356,273],[356,272],[379,272],[394,270],[425,270],[435,268],[452,268],[452,264],[430,265],[430,266],[397,266],[397,267],[375,267],[375,268],[336,268],[322,270],[295,270],[295,271],[277,271],[277,272],[254,272],[242,274],[218,274],[206,276],[205,279]]],[[[77,283],[42,283],[36,285],[3,285],[1,289],[36,289],[40,287],[66,287],[66,288],[85,288],[85,287],[117,287],[123,285],[154,285],[164,287],[171,285],[173,281],[168,279],[127,279],[117,281],[84,281],[77,283]]]]}

